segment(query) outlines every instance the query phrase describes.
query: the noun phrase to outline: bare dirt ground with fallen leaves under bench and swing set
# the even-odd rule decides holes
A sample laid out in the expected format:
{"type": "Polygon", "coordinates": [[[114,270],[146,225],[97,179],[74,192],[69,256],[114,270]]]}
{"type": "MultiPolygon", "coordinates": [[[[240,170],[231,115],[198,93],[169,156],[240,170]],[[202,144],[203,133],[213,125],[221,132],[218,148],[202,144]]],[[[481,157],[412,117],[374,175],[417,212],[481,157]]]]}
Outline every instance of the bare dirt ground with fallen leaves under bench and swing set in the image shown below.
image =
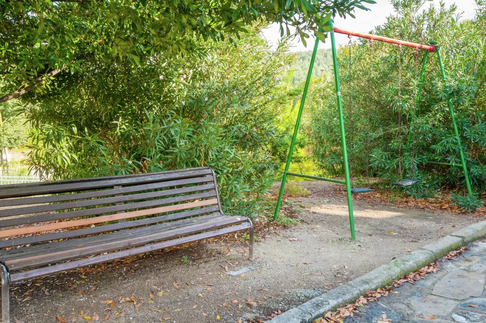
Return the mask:
{"type": "Polygon", "coordinates": [[[290,204],[283,209],[296,212],[302,223],[261,232],[254,262],[244,252],[247,243],[226,239],[104,264],[92,267],[91,272],[59,273],[13,284],[11,317],[22,323],[63,319],[235,323],[239,319],[248,322],[248,318],[264,322],[278,310],[301,304],[394,257],[484,220],[355,200],[357,241],[352,241],[342,185],[322,181],[302,185],[312,194],[288,199],[290,204]],[[230,275],[245,268],[248,271],[243,274],[230,275]]]}

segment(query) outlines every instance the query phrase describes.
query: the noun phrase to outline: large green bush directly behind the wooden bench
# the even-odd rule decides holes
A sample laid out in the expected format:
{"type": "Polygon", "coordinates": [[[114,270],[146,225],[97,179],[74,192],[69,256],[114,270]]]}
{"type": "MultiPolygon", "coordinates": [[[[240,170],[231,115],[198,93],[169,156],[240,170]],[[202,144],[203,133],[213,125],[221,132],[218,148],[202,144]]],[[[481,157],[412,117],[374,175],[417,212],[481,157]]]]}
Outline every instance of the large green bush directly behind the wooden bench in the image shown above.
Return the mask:
{"type": "Polygon", "coordinates": [[[237,47],[209,41],[199,58],[91,62],[60,75],[27,113],[32,167],[60,179],[209,166],[225,209],[252,215],[272,184],[269,148],[287,101],[279,77],[293,61],[285,42],[272,50],[259,32],[237,47]]]}

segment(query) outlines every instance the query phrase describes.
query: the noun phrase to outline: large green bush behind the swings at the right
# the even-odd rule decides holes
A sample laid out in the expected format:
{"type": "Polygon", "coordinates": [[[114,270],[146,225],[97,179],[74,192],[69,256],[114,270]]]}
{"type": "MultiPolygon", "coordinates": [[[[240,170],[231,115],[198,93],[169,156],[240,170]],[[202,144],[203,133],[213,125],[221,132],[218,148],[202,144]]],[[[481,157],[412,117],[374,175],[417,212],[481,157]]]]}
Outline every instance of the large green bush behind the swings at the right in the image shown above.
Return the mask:
{"type": "MultiPolygon", "coordinates": [[[[407,188],[407,193],[416,197],[432,197],[444,186],[464,189],[462,167],[429,163],[460,164],[459,147],[447,107],[447,97],[451,97],[468,156],[470,178],[479,191],[485,192],[486,3],[477,1],[476,16],[471,20],[459,19],[455,5],[446,8],[441,3],[438,7],[427,7],[421,0],[394,0],[392,3],[397,14],[387,17],[386,23],[374,33],[422,44],[436,40],[443,54],[449,91],[445,90],[436,55],[430,54],[417,119],[412,124],[416,72],[420,70],[422,51],[416,60],[413,48],[402,48],[399,97],[400,62],[396,46],[374,42],[371,74],[367,40],[342,48],[338,55],[341,92],[354,174],[363,175],[368,161],[370,172],[388,184],[399,178],[401,164],[404,178],[421,181],[407,188]],[[413,140],[407,145],[412,126],[415,128],[413,140]],[[369,155],[366,156],[368,129],[369,155]]],[[[313,113],[307,130],[312,138],[315,162],[322,170],[331,169],[336,175],[342,174],[334,81],[317,88],[309,102],[312,102],[313,113]]]]}

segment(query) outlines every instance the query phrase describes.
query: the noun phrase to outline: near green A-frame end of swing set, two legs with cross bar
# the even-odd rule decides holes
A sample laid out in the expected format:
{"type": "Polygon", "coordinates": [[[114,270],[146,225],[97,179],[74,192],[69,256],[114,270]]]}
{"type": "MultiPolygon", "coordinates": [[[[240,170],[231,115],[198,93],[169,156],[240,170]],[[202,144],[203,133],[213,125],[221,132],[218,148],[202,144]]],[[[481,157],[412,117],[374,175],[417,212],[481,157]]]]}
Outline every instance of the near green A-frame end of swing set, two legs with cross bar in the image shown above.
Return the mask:
{"type": "MultiPolygon", "coordinates": [[[[333,22],[332,19],[329,20],[327,23],[333,29],[333,22]]],[[[295,140],[297,138],[297,133],[300,125],[300,119],[302,117],[302,112],[304,109],[305,99],[307,97],[307,91],[309,90],[309,83],[311,81],[312,76],[312,68],[314,66],[315,55],[317,52],[317,47],[319,45],[319,38],[315,38],[314,49],[312,51],[311,63],[309,65],[309,71],[307,72],[307,79],[304,85],[304,92],[302,93],[302,98],[300,100],[300,107],[299,112],[297,114],[297,120],[295,120],[295,129],[294,135],[292,136],[292,141],[290,143],[289,155],[287,156],[287,163],[285,164],[285,169],[282,176],[282,183],[280,184],[280,191],[278,192],[278,199],[277,199],[277,206],[275,207],[275,214],[274,214],[274,221],[278,218],[278,212],[280,210],[280,205],[282,202],[283,191],[285,189],[285,183],[287,181],[287,175],[292,176],[299,176],[305,178],[313,178],[313,179],[320,179],[326,181],[332,181],[335,183],[346,184],[346,193],[347,193],[347,207],[349,211],[349,226],[351,229],[351,239],[356,240],[356,234],[354,231],[354,215],[353,215],[353,202],[351,199],[351,183],[349,179],[349,167],[347,163],[347,147],[346,147],[346,134],[344,130],[344,117],[343,117],[343,105],[341,102],[341,89],[339,86],[339,73],[338,73],[338,65],[337,65],[337,53],[336,53],[336,42],[334,40],[334,31],[330,32],[330,39],[331,39],[331,50],[332,50],[332,63],[334,65],[334,80],[336,83],[336,96],[337,96],[337,106],[338,106],[338,114],[339,114],[339,126],[341,131],[341,145],[343,149],[343,166],[345,171],[345,180],[338,180],[332,178],[323,178],[317,176],[310,176],[310,175],[303,175],[303,174],[296,174],[296,173],[289,173],[290,162],[292,161],[292,154],[294,153],[295,147],[295,140]]]]}

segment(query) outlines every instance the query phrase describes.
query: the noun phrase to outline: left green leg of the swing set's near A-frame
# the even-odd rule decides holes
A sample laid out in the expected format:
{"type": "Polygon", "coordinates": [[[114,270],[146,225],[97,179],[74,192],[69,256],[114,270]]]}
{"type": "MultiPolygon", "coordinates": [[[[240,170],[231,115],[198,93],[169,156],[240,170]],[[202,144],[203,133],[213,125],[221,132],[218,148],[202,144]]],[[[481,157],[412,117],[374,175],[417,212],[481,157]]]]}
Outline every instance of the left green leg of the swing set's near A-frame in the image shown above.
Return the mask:
{"type": "Polygon", "coordinates": [[[287,156],[287,163],[285,164],[285,170],[283,171],[282,183],[280,184],[280,191],[278,192],[277,206],[275,207],[274,221],[278,218],[278,211],[280,210],[280,204],[282,203],[283,190],[285,189],[285,182],[287,181],[287,173],[289,172],[290,162],[292,161],[292,154],[294,153],[295,140],[297,139],[297,133],[299,131],[300,119],[302,117],[302,111],[304,110],[305,98],[307,97],[307,91],[309,90],[309,83],[311,82],[312,68],[314,67],[315,54],[317,53],[317,47],[319,46],[319,38],[315,37],[314,50],[312,51],[311,64],[309,65],[309,71],[307,72],[307,79],[305,81],[304,92],[300,99],[299,112],[297,114],[297,120],[295,120],[294,135],[292,136],[292,142],[290,143],[289,155],[287,156]]]}

